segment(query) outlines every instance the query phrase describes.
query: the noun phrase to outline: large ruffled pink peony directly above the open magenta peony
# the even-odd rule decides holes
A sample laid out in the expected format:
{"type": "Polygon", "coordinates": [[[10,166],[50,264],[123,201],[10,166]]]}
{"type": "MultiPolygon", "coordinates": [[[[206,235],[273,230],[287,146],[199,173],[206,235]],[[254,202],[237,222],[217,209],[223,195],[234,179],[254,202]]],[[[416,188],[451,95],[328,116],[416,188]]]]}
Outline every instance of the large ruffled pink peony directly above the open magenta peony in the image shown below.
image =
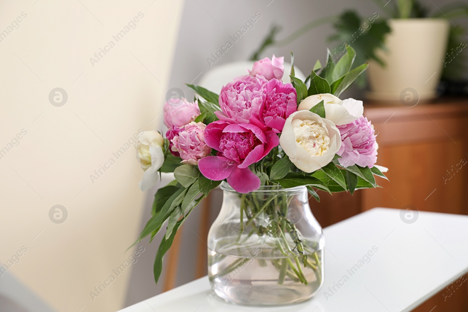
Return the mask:
{"type": "Polygon", "coordinates": [[[258,114],[263,102],[266,82],[262,76],[236,77],[221,89],[219,106],[222,111],[215,112],[216,116],[230,123],[249,123],[250,116],[258,114]]]}

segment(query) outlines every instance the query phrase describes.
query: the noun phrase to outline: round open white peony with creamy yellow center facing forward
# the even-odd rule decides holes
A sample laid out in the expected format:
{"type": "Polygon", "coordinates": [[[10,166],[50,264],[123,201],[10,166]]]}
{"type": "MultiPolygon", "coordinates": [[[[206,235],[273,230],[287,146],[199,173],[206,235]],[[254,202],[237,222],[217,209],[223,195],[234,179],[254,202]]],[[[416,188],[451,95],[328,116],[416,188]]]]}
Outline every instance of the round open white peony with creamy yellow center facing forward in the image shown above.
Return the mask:
{"type": "Polygon", "coordinates": [[[329,119],[299,110],[286,119],[279,145],[296,167],[310,173],[333,160],[341,147],[340,131],[329,119]]]}

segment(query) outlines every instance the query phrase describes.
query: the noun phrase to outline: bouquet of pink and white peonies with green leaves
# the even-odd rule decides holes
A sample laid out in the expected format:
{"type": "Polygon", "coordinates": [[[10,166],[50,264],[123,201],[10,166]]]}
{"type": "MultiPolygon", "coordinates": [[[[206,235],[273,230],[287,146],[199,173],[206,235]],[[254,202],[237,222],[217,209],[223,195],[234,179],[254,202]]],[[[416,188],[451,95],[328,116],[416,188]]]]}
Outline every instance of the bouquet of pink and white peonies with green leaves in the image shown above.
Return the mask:
{"type": "MultiPolygon", "coordinates": [[[[145,131],[136,146],[145,170],[142,190],[151,188],[161,172],[174,172],[176,178],[156,192],[153,217],[137,240],[150,235],[151,241],[168,221],[154,263],[156,282],[177,229],[223,180],[242,194],[262,185],[305,185],[319,201],[317,190],[352,194],[376,187],[374,175],[385,178],[384,167],[375,166],[378,145],[362,101],[339,99],[367,68],[363,64],[351,70],[355,56],[348,46],[335,64],[328,51],[326,65],[317,61],[302,81],[294,75],[291,53],[291,83],[283,83],[284,58],[273,55],[255,62],[249,74],[234,78],[219,95],[188,85],[197,94],[194,102],[164,105],[166,138],[145,131]]],[[[255,220],[248,224],[267,231],[258,217],[269,224],[273,216],[250,215],[255,220]]]]}

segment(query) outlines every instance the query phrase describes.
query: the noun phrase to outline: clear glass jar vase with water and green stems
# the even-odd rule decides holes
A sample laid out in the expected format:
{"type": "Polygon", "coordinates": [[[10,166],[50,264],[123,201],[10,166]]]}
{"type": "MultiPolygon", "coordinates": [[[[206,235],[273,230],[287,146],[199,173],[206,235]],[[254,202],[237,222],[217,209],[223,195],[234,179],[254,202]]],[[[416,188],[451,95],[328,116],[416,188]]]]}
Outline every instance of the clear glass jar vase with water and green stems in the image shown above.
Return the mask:
{"type": "Polygon", "coordinates": [[[305,186],[262,186],[249,194],[221,184],[223,204],[208,234],[208,276],[221,298],[286,305],[323,283],[324,237],[305,186]]]}

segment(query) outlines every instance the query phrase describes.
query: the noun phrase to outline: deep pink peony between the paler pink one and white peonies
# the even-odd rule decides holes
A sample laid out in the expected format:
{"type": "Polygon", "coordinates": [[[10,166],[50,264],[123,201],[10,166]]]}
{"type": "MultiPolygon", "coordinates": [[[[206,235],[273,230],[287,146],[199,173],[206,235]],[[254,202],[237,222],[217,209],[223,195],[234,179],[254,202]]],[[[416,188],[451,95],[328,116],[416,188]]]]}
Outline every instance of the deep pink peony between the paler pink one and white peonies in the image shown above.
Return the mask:
{"type": "Polygon", "coordinates": [[[282,81],[272,79],[266,83],[264,90],[265,99],[259,113],[253,114],[250,122],[263,130],[281,133],[286,118],[297,110],[296,89],[290,83],[284,85],[282,81]]]}

